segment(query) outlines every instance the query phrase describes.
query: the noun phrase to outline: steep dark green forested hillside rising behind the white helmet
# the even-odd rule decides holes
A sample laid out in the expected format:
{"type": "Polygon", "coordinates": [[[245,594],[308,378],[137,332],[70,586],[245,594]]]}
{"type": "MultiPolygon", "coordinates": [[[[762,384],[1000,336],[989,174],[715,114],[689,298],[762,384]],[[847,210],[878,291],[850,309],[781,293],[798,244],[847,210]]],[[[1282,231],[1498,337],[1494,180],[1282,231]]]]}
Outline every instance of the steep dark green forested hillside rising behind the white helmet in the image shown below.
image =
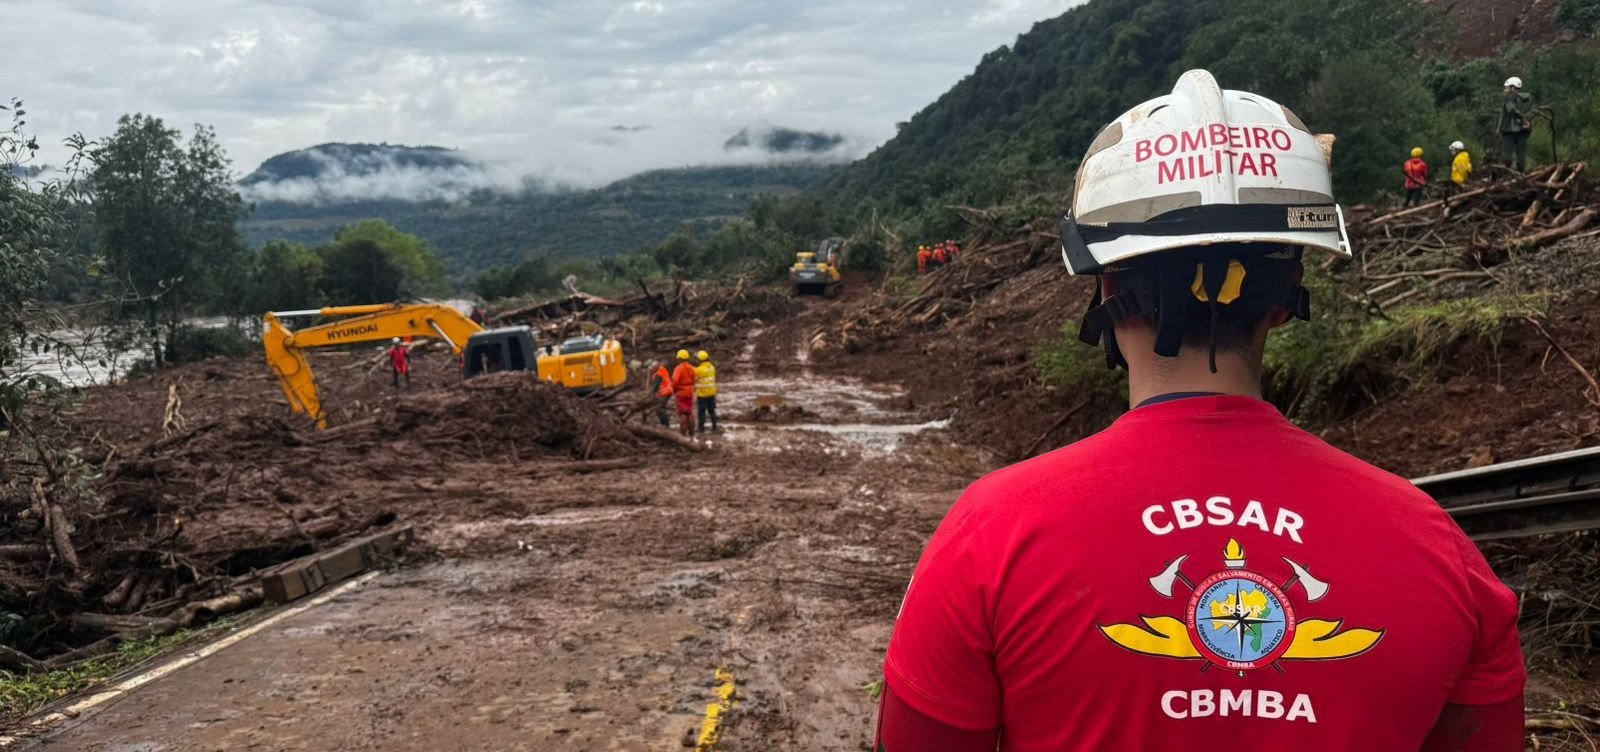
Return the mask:
{"type": "MultiPolygon", "coordinates": [[[[1091,0],[1042,21],[904,123],[899,134],[830,176],[814,194],[846,218],[931,216],[946,205],[992,206],[1064,194],[1101,125],[1168,91],[1192,67],[1226,88],[1294,109],[1339,134],[1336,181],[1371,198],[1413,144],[1432,155],[1461,138],[1494,142],[1486,114],[1509,72],[1570,114],[1595,120],[1597,0],[1091,0]],[[1515,8],[1512,8],[1515,6],[1515,8]],[[1528,6],[1528,8],[1523,8],[1528,6]],[[1499,21],[1488,13],[1499,8],[1499,21]],[[1483,13],[1480,13],[1483,11],[1483,13]],[[1541,16],[1542,14],[1542,16],[1541,16]],[[1480,18],[1482,16],[1482,18],[1480,18]],[[1552,16],[1587,54],[1549,54],[1552,16]],[[1501,26],[1486,34],[1480,24],[1501,26]],[[1470,34],[1458,34],[1464,24],[1470,34]],[[1518,34],[1526,29],[1526,34],[1518,34]],[[1483,46],[1494,58],[1469,58],[1483,46]]],[[[1589,128],[1589,125],[1576,125],[1589,128]]],[[[1573,136],[1587,142],[1587,136],[1573,136]]],[[[1534,149],[1538,149],[1538,136],[1534,149]]],[[[1546,152],[1541,152],[1546,154],[1546,152]]]]}

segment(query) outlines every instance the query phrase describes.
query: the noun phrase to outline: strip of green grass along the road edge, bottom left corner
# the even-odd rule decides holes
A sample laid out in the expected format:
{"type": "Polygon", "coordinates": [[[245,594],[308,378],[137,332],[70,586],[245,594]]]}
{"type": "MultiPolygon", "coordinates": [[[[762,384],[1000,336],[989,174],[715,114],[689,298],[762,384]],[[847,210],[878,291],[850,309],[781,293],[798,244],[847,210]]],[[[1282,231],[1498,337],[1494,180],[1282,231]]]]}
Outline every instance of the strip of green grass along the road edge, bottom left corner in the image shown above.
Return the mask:
{"type": "Polygon", "coordinates": [[[40,707],[69,694],[99,686],[107,678],[165,654],[176,646],[205,640],[248,619],[251,611],[218,619],[202,629],[186,629],[166,637],[130,640],[115,651],[46,674],[16,675],[0,670],[0,728],[10,726],[40,707]]]}

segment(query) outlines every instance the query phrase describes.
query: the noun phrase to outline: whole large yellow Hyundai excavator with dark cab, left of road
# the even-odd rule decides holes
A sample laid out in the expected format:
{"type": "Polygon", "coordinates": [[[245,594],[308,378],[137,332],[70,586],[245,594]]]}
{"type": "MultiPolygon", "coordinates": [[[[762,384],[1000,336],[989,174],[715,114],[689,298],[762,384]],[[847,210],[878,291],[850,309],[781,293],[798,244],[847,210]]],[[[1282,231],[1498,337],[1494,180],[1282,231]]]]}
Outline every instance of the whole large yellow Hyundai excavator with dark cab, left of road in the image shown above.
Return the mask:
{"type": "Polygon", "coordinates": [[[394,302],[378,306],[334,306],[310,310],[275,310],[262,317],[261,344],[267,363],[278,374],[283,395],[296,413],[328,427],[322,410],[317,379],[310,373],[306,350],[358,342],[381,342],[392,338],[440,339],[461,360],[462,376],[490,371],[538,371],[539,379],[574,390],[621,386],[627,379],[622,344],[600,336],[576,338],[560,347],[538,347],[533,330],[507,326],[485,330],[450,306],[430,302],[394,302]],[[283,318],[350,317],[330,323],[290,330],[283,318]]]}

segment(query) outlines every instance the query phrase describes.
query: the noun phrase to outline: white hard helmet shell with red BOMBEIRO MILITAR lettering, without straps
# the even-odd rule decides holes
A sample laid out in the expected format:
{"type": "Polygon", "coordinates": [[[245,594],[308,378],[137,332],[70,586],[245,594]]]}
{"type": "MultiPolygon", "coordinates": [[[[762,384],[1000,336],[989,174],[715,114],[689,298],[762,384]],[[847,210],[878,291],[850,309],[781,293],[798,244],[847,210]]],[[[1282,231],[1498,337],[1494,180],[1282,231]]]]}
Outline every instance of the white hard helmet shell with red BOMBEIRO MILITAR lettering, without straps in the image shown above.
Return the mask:
{"type": "Polygon", "coordinates": [[[1101,130],[1061,242],[1072,274],[1216,243],[1350,254],[1328,158],[1306,123],[1205,70],[1101,130]]]}

